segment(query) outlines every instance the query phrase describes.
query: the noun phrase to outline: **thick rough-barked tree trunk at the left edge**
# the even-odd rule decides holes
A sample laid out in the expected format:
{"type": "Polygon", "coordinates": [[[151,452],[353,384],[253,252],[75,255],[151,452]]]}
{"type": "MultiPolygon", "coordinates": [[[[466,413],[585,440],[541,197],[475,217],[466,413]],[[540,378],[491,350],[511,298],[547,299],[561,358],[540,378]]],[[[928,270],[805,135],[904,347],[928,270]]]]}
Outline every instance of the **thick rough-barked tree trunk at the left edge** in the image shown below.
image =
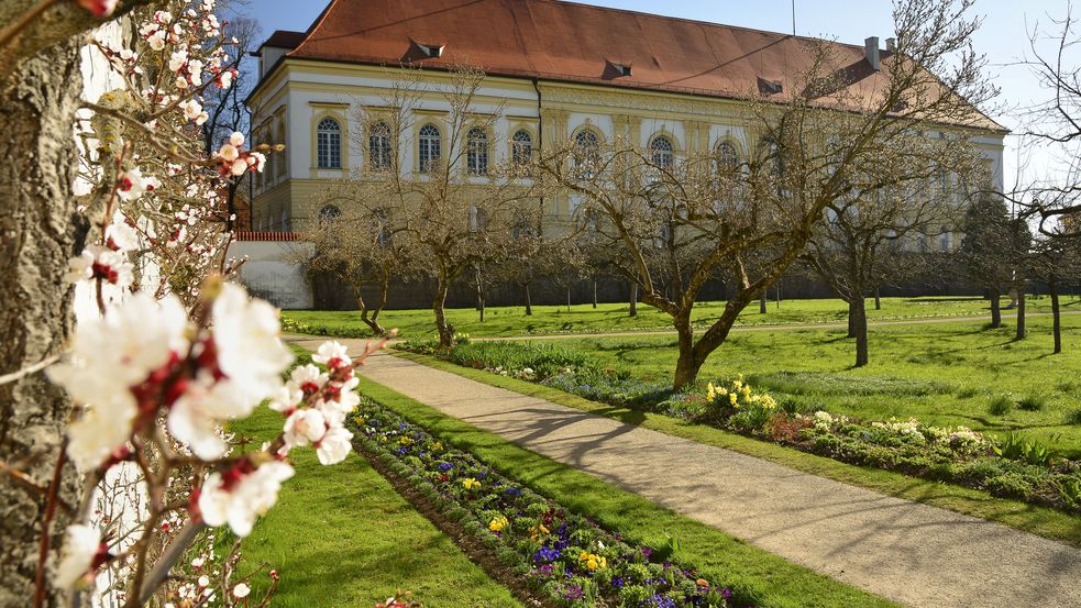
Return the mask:
{"type": "MultiPolygon", "coordinates": [[[[4,15],[2,24],[8,21],[4,15]]],[[[78,225],[73,189],[81,42],[77,36],[22,58],[0,79],[0,375],[59,354],[74,329],[71,286],[63,277],[88,228],[78,225]]],[[[70,414],[69,399],[44,373],[0,386],[0,462],[51,485],[70,414]]],[[[75,468],[65,467],[59,482],[58,498],[76,504],[75,468]]],[[[26,606],[34,597],[45,504],[35,491],[0,482],[0,606],[26,606]]],[[[54,556],[67,523],[57,511],[48,530],[54,556]]],[[[46,593],[46,605],[66,601],[46,593]]]]}

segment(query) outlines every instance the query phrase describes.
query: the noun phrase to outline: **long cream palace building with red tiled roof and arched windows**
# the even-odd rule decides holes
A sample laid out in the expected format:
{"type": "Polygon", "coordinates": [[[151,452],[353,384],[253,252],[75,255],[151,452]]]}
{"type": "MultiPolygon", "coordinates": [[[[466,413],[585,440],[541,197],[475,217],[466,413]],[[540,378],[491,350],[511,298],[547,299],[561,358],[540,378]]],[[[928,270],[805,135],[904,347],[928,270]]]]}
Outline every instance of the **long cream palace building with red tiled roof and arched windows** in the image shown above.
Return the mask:
{"type": "MultiPolygon", "coordinates": [[[[252,230],[290,232],[310,219],[328,179],[363,176],[390,150],[401,152],[402,172],[422,174],[445,153],[439,90],[455,65],[487,75],[478,112],[501,108],[485,162],[616,136],[673,157],[739,158],[752,145],[741,99],[748,91],[784,99],[810,60],[806,42],[560,0],[333,0],[307,32],[275,32],[257,52],[252,132],[287,150],[255,179],[252,230]],[[402,65],[423,68],[431,86],[410,132],[390,142],[357,110],[385,103],[402,65]]],[[[870,88],[892,41],[834,47],[851,64],[851,86],[870,88]]],[[[972,141],[1001,188],[1006,131],[980,119],[972,141]]],[[[550,197],[545,218],[566,221],[574,203],[550,197]]],[[[946,234],[935,247],[956,241],[946,234]]]]}

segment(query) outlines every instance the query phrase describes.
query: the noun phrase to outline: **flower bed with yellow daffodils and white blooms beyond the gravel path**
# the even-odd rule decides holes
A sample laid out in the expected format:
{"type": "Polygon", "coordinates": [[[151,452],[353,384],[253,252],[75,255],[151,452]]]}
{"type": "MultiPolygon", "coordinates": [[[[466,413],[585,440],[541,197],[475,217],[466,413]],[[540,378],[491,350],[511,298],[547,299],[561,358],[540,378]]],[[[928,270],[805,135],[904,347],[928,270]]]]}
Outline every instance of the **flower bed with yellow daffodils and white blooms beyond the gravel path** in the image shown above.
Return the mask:
{"type": "MultiPolygon", "coordinates": [[[[422,354],[410,344],[398,349],[422,354]]],[[[1058,457],[1037,441],[984,436],[964,427],[942,428],[916,419],[862,421],[826,411],[785,410],[742,378],[676,391],[668,385],[607,369],[583,353],[552,345],[460,344],[448,361],[534,382],[591,401],[629,407],[730,430],[838,461],[983,489],[1081,512],[1081,462],[1058,457]]]]}

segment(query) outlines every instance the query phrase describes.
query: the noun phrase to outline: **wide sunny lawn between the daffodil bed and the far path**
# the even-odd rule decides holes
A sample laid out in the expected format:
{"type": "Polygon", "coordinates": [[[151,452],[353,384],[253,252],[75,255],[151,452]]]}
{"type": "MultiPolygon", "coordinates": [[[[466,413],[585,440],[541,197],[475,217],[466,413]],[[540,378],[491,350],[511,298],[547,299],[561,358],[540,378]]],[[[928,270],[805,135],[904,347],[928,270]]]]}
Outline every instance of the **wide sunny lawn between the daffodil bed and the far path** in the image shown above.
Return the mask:
{"type": "MultiPolygon", "coordinates": [[[[1017,431],[1081,457],[1081,317],[1063,317],[1065,352],[1051,354],[1050,318],[1029,320],[1029,338],[1013,329],[957,322],[871,330],[871,364],[852,368],[854,344],[841,330],[733,333],[706,362],[699,379],[746,375],[782,402],[821,407],[868,420],[891,417],[979,431],[1017,431]],[[992,399],[1010,395],[1011,411],[991,413],[992,399]]],[[[672,338],[562,340],[600,365],[635,376],[671,378],[672,338]]]]}

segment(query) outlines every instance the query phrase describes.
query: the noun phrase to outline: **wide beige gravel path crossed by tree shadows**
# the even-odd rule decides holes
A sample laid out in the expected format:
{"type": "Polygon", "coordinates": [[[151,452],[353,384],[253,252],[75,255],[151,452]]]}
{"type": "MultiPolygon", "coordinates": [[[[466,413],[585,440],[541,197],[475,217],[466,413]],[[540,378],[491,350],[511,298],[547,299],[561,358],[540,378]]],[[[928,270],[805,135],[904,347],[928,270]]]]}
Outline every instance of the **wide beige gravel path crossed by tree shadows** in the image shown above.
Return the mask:
{"type": "MultiPolygon", "coordinates": [[[[364,344],[345,342],[351,352],[364,344]]],[[[299,344],[313,349],[319,341],[299,344]]],[[[387,354],[373,356],[363,374],[522,447],[905,605],[1081,607],[1081,549],[387,354]]]]}

